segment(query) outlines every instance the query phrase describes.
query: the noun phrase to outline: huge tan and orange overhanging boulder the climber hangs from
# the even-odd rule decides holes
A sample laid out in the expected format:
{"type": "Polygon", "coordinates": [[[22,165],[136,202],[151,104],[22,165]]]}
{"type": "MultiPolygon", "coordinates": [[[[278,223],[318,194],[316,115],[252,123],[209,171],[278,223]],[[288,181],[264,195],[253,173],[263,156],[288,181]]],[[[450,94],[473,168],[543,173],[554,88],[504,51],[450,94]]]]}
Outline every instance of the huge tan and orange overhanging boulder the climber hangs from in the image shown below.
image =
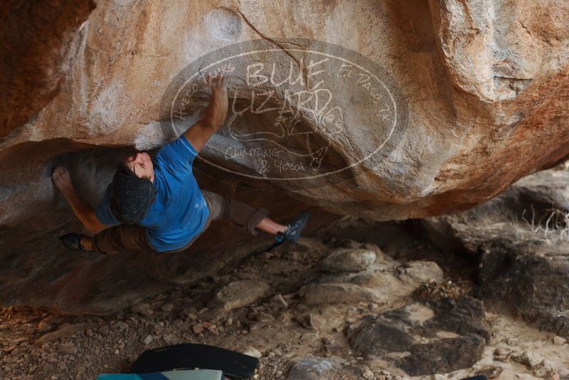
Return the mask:
{"type": "Polygon", "coordinates": [[[235,232],[185,259],[91,260],[55,241],[79,225],[53,165],[95,205],[129,148],[155,149],[198,120],[206,70],[233,78],[200,184],[281,215],[459,211],[569,154],[563,0],[68,3],[9,1],[0,14],[1,305],[106,310],[242,247],[235,232]],[[109,288],[122,282],[130,292],[109,288]]]}

